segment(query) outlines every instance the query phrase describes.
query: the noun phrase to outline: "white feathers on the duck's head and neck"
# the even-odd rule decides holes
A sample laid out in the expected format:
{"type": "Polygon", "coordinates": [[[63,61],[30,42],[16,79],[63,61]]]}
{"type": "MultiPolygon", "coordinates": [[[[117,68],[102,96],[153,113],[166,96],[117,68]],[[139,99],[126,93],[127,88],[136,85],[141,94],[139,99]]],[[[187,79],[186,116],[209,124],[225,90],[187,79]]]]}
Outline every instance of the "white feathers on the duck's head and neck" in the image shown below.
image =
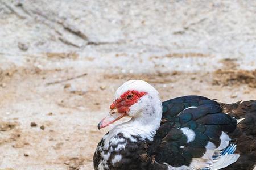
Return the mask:
{"type": "Polygon", "coordinates": [[[127,135],[131,133],[132,135],[141,135],[144,138],[152,139],[162,119],[162,101],[159,92],[143,80],[129,80],[118,87],[114,99],[119,99],[123,93],[133,90],[146,92],[146,95],[130,106],[128,114],[132,117],[131,120],[115,126],[112,130],[127,131],[125,133],[127,135]]]}

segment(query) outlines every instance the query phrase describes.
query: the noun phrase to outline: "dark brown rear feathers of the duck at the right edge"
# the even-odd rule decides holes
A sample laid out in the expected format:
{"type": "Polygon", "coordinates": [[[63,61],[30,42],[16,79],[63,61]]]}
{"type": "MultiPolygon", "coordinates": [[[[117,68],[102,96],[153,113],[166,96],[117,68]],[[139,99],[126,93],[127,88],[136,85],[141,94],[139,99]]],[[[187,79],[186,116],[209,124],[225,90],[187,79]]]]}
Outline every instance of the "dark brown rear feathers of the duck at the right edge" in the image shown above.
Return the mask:
{"type": "Polygon", "coordinates": [[[224,113],[241,120],[236,130],[229,133],[232,142],[237,144],[237,162],[225,169],[253,169],[256,164],[256,100],[234,104],[220,103],[224,113]]]}

